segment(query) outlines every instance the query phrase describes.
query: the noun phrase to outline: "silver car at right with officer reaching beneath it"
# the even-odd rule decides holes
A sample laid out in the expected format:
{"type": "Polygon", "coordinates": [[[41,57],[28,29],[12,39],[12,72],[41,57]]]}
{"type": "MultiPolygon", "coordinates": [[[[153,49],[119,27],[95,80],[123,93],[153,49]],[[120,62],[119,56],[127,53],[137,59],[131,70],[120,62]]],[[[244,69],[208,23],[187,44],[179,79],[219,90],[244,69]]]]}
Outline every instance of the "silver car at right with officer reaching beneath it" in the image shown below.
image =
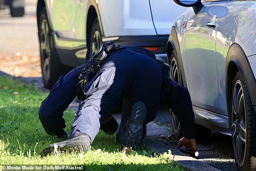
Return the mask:
{"type": "MultiPolygon", "coordinates": [[[[170,76],[187,87],[196,132],[232,136],[238,170],[256,170],[256,1],[179,1],[167,53],[170,76]],[[202,128],[204,127],[204,128],[202,128]]],[[[182,128],[171,112],[173,133],[182,128]]]]}

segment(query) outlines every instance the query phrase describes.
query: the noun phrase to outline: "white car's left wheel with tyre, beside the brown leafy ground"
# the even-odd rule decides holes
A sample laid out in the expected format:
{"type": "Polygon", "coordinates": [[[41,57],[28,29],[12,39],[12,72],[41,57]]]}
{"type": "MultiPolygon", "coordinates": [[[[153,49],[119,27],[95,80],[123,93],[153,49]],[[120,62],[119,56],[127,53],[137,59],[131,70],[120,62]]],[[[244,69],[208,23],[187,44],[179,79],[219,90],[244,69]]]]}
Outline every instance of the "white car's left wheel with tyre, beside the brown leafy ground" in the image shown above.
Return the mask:
{"type": "Polygon", "coordinates": [[[44,8],[41,12],[40,25],[38,30],[40,41],[39,43],[42,79],[44,82],[44,87],[50,89],[59,78],[60,67],[58,67],[56,61],[53,58],[54,46],[52,41],[51,29],[46,14],[46,8],[44,8]]]}

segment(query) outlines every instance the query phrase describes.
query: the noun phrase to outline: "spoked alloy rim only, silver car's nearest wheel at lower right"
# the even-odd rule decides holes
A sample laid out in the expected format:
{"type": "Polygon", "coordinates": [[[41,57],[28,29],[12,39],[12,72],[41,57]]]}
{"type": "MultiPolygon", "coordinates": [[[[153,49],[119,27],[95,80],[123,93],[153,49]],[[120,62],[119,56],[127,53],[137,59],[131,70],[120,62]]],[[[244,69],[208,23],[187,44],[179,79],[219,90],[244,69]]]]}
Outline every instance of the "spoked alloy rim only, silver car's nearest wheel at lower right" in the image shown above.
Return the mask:
{"type": "Polygon", "coordinates": [[[235,82],[232,96],[232,143],[235,159],[239,167],[243,166],[246,154],[246,109],[243,87],[240,80],[235,82]]]}

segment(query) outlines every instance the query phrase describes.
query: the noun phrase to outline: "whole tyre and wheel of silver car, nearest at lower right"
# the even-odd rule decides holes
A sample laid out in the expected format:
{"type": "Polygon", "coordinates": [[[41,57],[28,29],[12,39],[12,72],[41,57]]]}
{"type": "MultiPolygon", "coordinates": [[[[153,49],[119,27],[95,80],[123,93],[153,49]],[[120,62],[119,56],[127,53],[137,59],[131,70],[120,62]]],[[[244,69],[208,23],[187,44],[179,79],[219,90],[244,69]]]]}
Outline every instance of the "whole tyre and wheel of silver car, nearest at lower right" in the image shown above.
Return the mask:
{"type": "Polygon", "coordinates": [[[247,84],[240,72],[233,82],[232,144],[239,171],[256,170],[256,113],[247,84]]]}

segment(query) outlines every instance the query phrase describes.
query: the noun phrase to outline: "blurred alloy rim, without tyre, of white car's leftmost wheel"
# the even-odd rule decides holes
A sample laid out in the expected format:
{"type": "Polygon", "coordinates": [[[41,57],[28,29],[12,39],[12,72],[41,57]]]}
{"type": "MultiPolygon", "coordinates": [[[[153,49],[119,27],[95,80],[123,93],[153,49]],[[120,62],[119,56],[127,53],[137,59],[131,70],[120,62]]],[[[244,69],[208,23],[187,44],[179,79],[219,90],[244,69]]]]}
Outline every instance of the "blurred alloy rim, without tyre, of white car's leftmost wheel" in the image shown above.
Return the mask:
{"type": "Polygon", "coordinates": [[[40,32],[40,54],[43,62],[42,73],[46,80],[50,78],[50,39],[49,27],[46,19],[42,20],[41,32],[40,32]]]}

